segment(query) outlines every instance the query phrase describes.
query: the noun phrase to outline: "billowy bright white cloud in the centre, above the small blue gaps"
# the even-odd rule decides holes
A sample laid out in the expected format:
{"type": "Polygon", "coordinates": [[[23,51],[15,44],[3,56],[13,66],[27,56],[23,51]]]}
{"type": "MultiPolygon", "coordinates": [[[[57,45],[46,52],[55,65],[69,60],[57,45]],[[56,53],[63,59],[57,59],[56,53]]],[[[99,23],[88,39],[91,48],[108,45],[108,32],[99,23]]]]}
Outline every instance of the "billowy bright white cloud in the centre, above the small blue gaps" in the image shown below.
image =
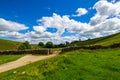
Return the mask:
{"type": "Polygon", "coordinates": [[[87,31],[90,26],[70,19],[68,16],[60,16],[56,13],[52,17],[43,17],[38,20],[44,28],[53,27],[57,29],[56,34],[62,35],[67,28],[69,31],[87,31]]]}

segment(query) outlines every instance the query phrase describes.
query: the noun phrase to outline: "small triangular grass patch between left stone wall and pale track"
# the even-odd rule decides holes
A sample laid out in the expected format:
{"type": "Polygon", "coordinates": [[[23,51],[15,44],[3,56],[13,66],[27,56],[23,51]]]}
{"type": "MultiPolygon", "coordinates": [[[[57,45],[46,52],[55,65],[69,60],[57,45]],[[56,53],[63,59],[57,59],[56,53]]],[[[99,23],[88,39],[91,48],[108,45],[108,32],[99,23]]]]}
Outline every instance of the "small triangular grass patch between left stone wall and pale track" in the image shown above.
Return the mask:
{"type": "Polygon", "coordinates": [[[10,61],[14,61],[24,55],[0,55],[0,65],[10,61]]]}

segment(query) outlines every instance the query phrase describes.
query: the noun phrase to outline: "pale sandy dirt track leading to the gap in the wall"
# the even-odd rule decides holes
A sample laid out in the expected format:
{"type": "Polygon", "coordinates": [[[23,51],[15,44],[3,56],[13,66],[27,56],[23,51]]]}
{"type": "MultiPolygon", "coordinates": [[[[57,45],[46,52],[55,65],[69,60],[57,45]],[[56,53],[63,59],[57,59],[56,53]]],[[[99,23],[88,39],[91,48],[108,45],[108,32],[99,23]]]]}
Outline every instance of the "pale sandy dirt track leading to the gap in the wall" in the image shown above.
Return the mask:
{"type": "Polygon", "coordinates": [[[58,53],[56,54],[51,54],[48,56],[34,56],[34,55],[26,55],[16,61],[12,61],[12,62],[8,62],[5,64],[0,65],[0,73],[8,71],[8,70],[12,70],[39,60],[44,60],[44,59],[48,59],[54,56],[57,56],[58,53]]]}

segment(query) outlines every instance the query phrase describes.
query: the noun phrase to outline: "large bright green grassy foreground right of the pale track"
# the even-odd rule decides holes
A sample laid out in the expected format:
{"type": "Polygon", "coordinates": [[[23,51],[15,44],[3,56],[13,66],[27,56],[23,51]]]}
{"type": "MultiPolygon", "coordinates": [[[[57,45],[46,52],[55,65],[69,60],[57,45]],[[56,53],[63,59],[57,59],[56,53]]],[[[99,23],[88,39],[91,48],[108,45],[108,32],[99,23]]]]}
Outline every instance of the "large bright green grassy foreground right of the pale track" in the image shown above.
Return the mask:
{"type": "Polygon", "coordinates": [[[0,74],[0,80],[120,80],[120,49],[77,50],[0,74]]]}

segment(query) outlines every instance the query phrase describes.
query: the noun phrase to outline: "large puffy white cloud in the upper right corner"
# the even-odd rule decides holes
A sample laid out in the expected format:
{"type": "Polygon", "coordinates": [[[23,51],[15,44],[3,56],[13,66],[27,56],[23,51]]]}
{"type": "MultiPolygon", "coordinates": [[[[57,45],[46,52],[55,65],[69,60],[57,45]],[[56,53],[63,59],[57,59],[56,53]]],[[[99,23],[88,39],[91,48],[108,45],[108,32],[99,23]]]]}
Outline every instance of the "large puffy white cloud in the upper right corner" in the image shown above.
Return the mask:
{"type": "Polygon", "coordinates": [[[120,2],[111,3],[106,0],[100,0],[94,5],[97,13],[90,20],[90,25],[95,26],[111,16],[120,14],[120,2]]]}

